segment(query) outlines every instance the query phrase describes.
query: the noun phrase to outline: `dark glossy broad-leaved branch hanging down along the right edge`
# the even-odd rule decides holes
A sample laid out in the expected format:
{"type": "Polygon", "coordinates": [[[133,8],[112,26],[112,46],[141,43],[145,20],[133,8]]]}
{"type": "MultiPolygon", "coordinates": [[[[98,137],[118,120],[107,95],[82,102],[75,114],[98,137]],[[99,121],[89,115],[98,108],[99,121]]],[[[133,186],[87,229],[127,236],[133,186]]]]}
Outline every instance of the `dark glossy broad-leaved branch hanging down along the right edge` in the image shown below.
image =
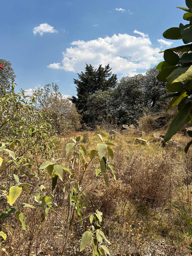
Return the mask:
{"type": "MultiPolygon", "coordinates": [[[[189,24],[183,25],[181,23],[179,27],[167,29],[163,33],[166,39],[182,39],[185,45],[166,49],[164,61],[157,66],[157,69],[161,71],[157,78],[167,82],[166,87],[172,93],[164,97],[172,98],[167,110],[177,105],[179,111],[169,125],[164,138],[165,141],[172,138],[185,123],[192,121],[192,44],[189,44],[192,42],[192,1],[186,0],[185,2],[187,8],[178,8],[185,11],[183,19],[189,24]]],[[[192,137],[191,132],[188,132],[188,135],[192,137]]],[[[186,145],[185,153],[191,144],[192,141],[186,145]]]]}

